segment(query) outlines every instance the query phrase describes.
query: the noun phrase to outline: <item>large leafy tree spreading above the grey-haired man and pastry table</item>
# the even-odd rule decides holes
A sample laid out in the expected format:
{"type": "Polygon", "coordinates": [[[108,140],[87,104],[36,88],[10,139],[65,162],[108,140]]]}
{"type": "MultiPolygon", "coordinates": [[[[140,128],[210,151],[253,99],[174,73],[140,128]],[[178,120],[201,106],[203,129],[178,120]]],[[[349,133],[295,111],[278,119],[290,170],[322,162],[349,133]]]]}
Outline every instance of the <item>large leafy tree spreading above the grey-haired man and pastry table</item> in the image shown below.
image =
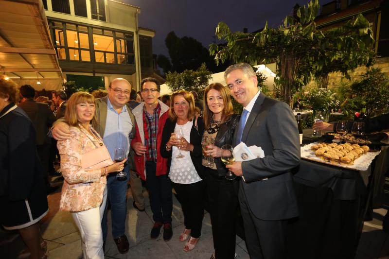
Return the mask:
{"type": "Polygon", "coordinates": [[[220,22],[216,35],[227,45],[210,45],[210,54],[217,64],[227,59],[249,64],[276,60],[279,70],[275,83],[281,99],[291,104],[292,92],[315,76],[325,77],[332,71],[348,76],[348,70],[373,63],[374,38],[367,19],[359,14],[343,26],[320,31],[314,22],[318,10],[318,0],[311,0],[296,10],[295,17],[285,17],[278,28],[269,28],[266,22],[264,29],[255,34],[232,33],[220,22]]]}

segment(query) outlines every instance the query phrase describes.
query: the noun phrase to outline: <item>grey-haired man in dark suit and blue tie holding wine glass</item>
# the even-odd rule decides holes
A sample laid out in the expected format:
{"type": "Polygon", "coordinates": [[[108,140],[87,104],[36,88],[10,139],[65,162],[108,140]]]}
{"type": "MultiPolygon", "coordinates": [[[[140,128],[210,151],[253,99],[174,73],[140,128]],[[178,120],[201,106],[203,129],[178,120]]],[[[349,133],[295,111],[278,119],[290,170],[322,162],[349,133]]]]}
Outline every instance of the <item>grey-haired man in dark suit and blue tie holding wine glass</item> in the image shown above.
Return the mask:
{"type": "Polygon", "coordinates": [[[265,157],[228,165],[242,176],[239,190],[250,258],[286,258],[287,219],[299,215],[290,170],[300,162],[296,119],[290,107],[258,90],[247,63],[232,65],[224,74],[232,97],[244,106],[233,142],[262,147],[265,157]]]}

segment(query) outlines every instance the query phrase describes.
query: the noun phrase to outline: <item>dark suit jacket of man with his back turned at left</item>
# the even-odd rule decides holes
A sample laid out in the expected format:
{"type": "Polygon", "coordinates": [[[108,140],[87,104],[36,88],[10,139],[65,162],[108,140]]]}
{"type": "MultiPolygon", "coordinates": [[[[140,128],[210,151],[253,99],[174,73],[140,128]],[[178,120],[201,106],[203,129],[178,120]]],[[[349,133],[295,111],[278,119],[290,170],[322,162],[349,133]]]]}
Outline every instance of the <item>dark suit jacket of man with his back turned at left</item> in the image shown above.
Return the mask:
{"type": "Polygon", "coordinates": [[[19,107],[27,113],[33,122],[36,132],[36,145],[50,144],[51,140],[47,137],[47,133],[55,121],[55,117],[49,105],[27,100],[19,104],[19,107]]]}

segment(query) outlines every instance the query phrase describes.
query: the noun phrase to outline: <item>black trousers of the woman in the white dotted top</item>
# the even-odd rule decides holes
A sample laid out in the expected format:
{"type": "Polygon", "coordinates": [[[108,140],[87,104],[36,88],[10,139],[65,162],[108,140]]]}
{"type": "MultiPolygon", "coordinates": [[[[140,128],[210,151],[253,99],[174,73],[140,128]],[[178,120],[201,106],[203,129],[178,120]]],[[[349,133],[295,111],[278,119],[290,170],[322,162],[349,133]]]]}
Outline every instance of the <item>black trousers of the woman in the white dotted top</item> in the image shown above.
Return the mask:
{"type": "Polygon", "coordinates": [[[181,203],[185,228],[191,229],[192,237],[199,238],[204,217],[205,181],[172,185],[181,203]]]}

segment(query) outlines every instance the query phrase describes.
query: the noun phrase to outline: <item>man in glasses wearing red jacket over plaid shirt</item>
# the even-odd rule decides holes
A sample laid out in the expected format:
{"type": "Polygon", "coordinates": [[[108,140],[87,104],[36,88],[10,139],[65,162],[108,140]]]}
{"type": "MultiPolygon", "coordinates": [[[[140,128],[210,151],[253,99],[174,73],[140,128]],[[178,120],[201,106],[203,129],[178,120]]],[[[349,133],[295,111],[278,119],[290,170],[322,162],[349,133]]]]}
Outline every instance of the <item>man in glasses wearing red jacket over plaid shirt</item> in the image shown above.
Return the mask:
{"type": "Polygon", "coordinates": [[[141,95],[144,101],[132,110],[137,124],[131,146],[136,153],[136,171],[146,181],[149,191],[155,222],[150,238],[158,238],[163,225],[163,240],[169,241],[173,236],[172,185],[167,174],[167,159],[162,158],[159,152],[169,107],[158,100],[159,91],[160,85],[156,79],[148,77],[142,80],[141,95]]]}

